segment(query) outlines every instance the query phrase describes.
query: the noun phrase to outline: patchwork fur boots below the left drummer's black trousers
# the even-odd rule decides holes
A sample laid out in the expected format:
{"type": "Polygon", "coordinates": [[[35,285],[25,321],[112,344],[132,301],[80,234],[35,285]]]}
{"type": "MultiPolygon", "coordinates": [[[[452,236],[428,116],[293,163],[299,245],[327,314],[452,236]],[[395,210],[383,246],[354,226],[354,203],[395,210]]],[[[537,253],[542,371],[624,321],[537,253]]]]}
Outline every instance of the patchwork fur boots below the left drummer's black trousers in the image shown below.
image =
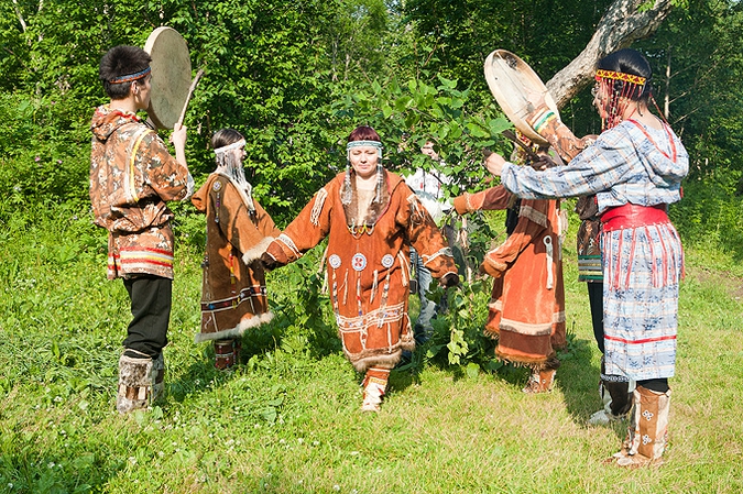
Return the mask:
{"type": "MultiPolygon", "coordinates": [[[[162,353],[159,359],[162,362],[162,353]]],[[[117,410],[120,414],[128,414],[132,410],[146,408],[153,399],[155,388],[162,393],[161,370],[155,369],[154,361],[150,358],[135,359],[121,355],[119,359],[119,392],[116,399],[117,410]],[[155,381],[159,375],[161,381],[156,384],[155,381]]]]}

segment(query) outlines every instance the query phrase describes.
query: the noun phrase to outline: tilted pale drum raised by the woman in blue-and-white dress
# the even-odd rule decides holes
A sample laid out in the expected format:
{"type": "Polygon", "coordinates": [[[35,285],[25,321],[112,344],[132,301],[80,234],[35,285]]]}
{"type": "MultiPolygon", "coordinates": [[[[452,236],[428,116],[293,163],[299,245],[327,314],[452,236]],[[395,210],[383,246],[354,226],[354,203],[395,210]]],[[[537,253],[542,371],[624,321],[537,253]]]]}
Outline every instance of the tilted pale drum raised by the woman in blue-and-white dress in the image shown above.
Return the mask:
{"type": "Polygon", "coordinates": [[[555,100],[526,62],[505,50],[496,50],[485,58],[485,80],[495,100],[516,129],[537,144],[547,141],[526,123],[525,118],[534,110],[528,101],[529,92],[544,95],[545,102],[559,116],[555,100]]]}

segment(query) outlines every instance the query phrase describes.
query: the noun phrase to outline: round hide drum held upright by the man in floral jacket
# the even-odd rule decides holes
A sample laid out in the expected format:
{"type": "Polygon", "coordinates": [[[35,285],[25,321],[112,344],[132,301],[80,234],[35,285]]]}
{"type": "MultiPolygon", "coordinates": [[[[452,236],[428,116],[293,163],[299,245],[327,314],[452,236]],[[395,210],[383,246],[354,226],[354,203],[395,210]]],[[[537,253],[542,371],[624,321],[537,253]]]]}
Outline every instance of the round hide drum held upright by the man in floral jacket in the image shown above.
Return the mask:
{"type": "Polygon", "coordinates": [[[173,28],[157,28],[147,37],[144,51],[152,57],[152,97],[147,117],[159,129],[173,129],[190,86],[186,40],[173,28]]]}

